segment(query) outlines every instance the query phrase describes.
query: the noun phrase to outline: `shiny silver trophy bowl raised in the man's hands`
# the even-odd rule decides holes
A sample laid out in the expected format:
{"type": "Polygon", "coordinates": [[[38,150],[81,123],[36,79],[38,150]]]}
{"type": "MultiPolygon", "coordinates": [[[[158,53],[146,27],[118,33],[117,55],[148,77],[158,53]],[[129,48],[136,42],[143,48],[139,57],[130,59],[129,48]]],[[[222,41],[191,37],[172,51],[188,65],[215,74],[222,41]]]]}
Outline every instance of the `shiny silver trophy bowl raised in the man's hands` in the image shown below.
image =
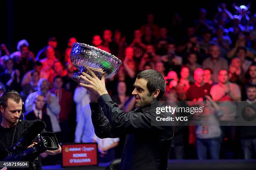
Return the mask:
{"type": "Polygon", "coordinates": [[[78,69],[78,72],[72,75],[72,79],[78,83],[82,82],[84,84],[88,84],[88,82],[80,77],[82,72],[86,72],[90,75],[88,69],[91,69],[99,79],[101,79],[104,74],[106,74],[106,78],[110,78],[117,73],[122,64],[118,57],[115,57],[109,52],[79,42],[73,44],[73,48],[70,52],[70,60],[78,69]]]}

